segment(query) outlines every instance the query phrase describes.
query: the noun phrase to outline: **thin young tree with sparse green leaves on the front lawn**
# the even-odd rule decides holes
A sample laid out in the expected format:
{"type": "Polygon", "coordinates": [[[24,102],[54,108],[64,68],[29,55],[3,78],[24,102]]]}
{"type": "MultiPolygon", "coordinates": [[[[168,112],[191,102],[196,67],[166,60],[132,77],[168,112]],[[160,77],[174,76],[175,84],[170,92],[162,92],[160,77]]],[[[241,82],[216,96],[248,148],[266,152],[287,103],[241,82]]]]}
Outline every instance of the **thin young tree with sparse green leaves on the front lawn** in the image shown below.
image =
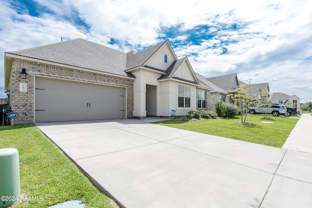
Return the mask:
{"type": "Polygon", "coordinates": [[[248,109],[256,104],[255,95],[251,95],[251,88],[254,84],[251,83],[251,79],[248,79],[248,84],[240,84],[236,88],[238,91],[236,94],[228,95],[236,105],[241,106],[241,118],[242,122],[246,122],[248,109]],[[245,118],[243,119],[243,113],[245,113],[245,118]]]}

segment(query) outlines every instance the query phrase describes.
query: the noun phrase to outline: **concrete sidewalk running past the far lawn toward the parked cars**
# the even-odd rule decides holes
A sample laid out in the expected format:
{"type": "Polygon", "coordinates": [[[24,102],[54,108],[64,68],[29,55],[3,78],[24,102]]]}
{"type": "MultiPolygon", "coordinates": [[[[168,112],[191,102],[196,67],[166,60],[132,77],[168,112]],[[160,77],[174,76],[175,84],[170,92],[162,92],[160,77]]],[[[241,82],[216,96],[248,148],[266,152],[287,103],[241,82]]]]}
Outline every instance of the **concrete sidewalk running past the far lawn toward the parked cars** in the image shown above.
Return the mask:
{"type": "Polygon", "coordinates": [[[312,153],[312,116],[303,113],[282,149],[312,153]]]}

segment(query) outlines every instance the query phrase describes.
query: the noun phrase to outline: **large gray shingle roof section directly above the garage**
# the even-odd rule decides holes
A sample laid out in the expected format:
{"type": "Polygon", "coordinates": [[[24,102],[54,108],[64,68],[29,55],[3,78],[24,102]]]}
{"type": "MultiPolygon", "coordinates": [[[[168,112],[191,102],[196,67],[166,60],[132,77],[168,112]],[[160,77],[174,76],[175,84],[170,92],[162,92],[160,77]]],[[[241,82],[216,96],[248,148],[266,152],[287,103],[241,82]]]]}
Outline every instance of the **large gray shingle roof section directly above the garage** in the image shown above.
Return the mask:
{"type": "Polygon", "coordinates": [[[133,77],[125,72],[126,53],[81,38],[7,53],[133,77]]]}

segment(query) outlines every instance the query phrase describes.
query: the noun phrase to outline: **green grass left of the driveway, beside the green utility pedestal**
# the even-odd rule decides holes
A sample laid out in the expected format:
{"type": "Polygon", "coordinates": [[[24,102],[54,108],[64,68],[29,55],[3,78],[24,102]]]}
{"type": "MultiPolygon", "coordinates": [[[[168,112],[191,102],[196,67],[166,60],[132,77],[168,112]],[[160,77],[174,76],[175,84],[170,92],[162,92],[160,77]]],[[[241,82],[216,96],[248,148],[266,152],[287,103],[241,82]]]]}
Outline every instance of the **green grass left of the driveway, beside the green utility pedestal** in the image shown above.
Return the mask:
{"type": "Polygon", "coordinates": [[[2,148],[19,151],[21,194],[43,197],[23,201],[18,208],[46,208],[76,199],[87,207],[116,207],[36,126],[0,126],[2,148]]]}

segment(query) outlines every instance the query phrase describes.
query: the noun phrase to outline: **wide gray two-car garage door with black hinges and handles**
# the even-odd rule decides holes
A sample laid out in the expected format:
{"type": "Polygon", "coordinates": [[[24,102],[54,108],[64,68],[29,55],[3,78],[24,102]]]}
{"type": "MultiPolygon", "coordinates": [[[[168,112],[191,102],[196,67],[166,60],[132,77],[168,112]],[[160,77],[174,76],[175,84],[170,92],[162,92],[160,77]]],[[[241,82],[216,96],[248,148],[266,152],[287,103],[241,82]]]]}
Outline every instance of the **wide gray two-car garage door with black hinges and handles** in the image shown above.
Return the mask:
{"type": "Polygon", "coordinates": [[[35,122],[125,118],[125,88],[36,77],[35,122]]]}

